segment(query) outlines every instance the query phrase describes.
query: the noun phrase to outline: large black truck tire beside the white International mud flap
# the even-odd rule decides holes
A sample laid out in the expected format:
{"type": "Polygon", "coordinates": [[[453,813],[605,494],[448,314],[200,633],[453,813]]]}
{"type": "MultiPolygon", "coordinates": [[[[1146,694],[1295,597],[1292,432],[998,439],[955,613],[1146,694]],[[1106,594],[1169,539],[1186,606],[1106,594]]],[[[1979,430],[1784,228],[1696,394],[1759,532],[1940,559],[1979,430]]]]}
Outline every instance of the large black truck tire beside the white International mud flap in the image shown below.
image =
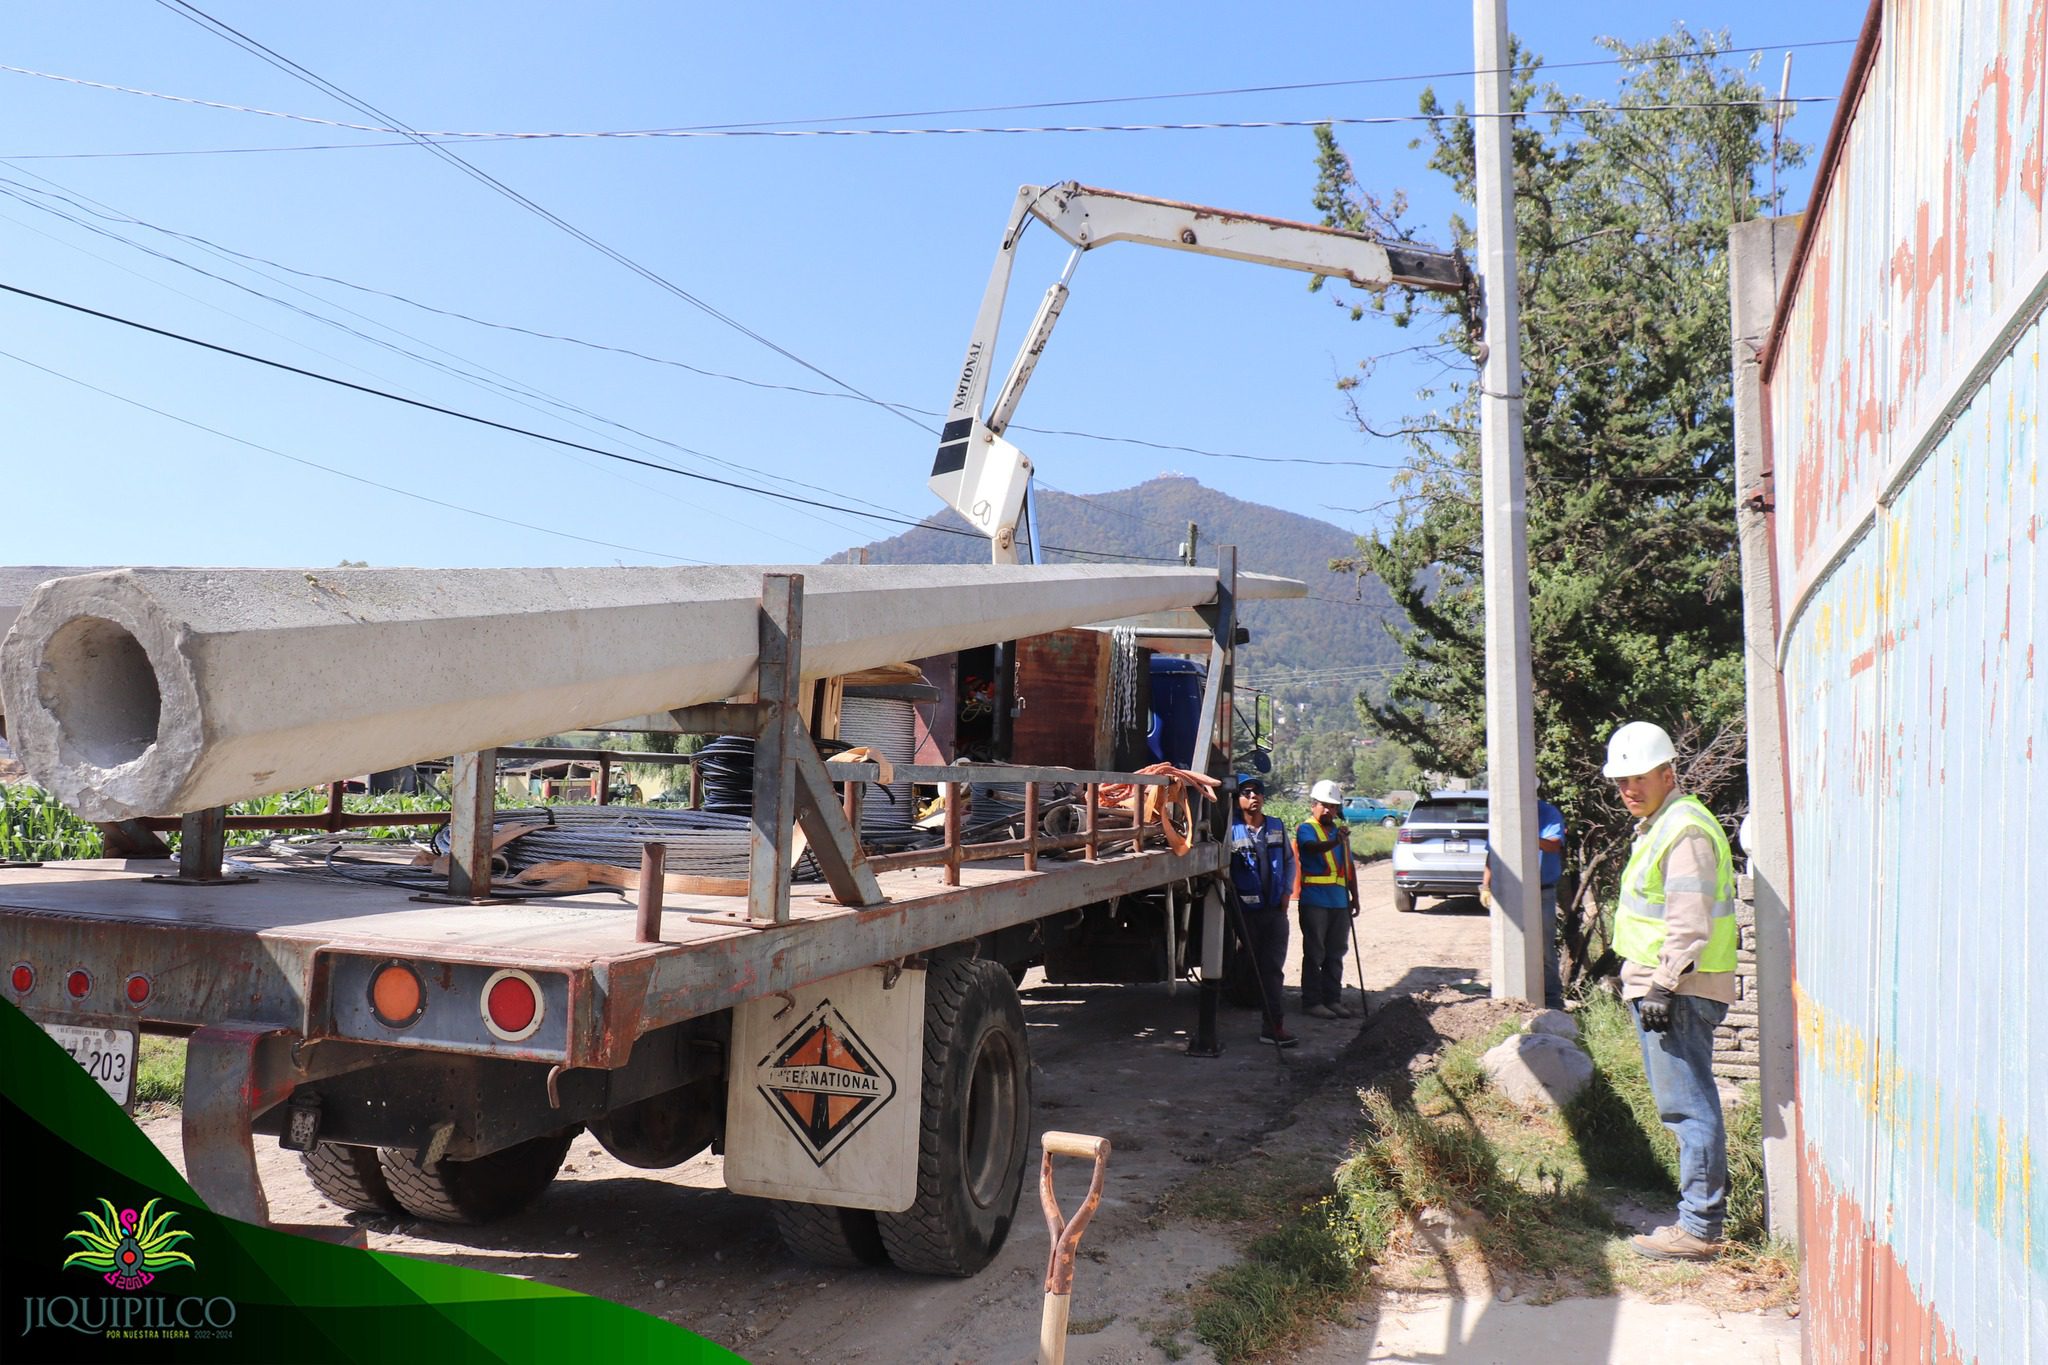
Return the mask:
{"type": "Polygon", "coordinates": [[[932,970],[920,1091],[918,1199],[874,1222],[897,1269],[973,1275],[1010,1236],[1030,1156],[1030,1046],[1001,964],[932,970]]]}

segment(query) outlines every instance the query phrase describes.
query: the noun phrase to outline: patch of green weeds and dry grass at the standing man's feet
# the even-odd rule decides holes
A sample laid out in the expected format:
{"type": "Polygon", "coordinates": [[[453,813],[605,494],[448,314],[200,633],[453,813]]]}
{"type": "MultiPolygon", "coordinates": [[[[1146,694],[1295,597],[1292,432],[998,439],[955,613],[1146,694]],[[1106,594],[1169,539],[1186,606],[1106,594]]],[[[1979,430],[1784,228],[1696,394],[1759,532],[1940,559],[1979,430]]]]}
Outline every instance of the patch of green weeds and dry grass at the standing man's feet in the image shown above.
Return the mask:
{"type": "Polygon", "coordinates": [[[1618,1287],[1729,1308],[1786,1302],[1798,1267],[1763,1236],[1755,1087],[1729,1111],[1729,1252],[1710,1265],[1642,1261],[1610,1207],[1669,1203],[1677,1146],[1626,1009],[1593,995],[1575,1017],[1595,1074],[1561,1113],[1524,1111],[1487,1078],[1481,1054],[1520,1027],[1505,1019],[1450,1046],[1413,1087],[1399,1076],[1362,1091],[1364,1132],[1333,1171],[1245,1162],[1176,1191],[1171,1216],[1249,1222],[1268,1209],[1243,1259],[1192,1295],[1194,1334],[1225,1365],[1270,1357],[1343,1314],[1368,1277],[1524,1302],[1618,1287]]]}

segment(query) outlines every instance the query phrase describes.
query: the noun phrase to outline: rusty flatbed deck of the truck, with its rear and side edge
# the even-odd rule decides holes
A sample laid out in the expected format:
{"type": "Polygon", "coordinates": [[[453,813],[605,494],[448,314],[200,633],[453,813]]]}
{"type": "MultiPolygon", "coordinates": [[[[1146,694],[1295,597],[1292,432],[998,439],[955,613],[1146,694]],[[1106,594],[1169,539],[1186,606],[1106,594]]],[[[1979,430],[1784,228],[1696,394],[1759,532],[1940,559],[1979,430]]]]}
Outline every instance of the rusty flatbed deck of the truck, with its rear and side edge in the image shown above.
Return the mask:
{"type": "Polygon", "coordinates": [[[618,1066],[641,1033],[872,962],[915,956],[979,933],[1212,874],[1225,849],[1104,853],[1098,862],[1016,860],[879,874],[887,900],[852,909],[825,884],[795,884],[788,923],[750,923],[745,896],[670,892],[659,941],[635,937],[635,907],[616,892],[530,896],[485,905],[418,900],[401,888],[324,874],[266,870],[254,880],[178,886],[154,880],[162,862],[98,860],[10,868],[0,882],[10,962],[27,962],[39,990],[16,1003],[43,1021],[129,1019],[170,1029],[223,1021],[285,1027],[303,1040],[346,1038],[487,1052],[565,1066],[618,1066]],[[453,1005],[397,1031],[362,993],[371,970],[408,960],[469,999],[492,972],[516,964],[559,999],[557,1021],[508,1044],[475,1011],[453,1005]],[[233,964],[233,970],[223,966],[233,964]],[[72,972],[88,988],[72,995],[72,972]],[[147,999],[125,982],[141,976],[147,999]],[[469,980],[477,978],[477,980],[469,980]]]}

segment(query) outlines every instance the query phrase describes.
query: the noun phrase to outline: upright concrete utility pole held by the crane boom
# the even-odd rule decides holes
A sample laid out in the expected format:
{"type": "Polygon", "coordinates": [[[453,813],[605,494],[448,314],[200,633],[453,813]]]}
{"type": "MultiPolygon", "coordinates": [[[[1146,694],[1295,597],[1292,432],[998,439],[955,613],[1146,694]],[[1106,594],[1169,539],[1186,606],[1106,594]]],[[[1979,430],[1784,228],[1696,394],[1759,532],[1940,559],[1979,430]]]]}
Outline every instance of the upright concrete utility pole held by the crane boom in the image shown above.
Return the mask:
{"type": "Polygon", "coordinates": [[[1493,997],[1542,1003],[1536,857],[1536,706],[1522,479],[1522,317],[1516,293],[1516,168],[1507,113],[1507,0],[1473,0],[1475,182],[1485,362],[1479,473],[1487,587],[1487,860],[1493,864],[1493,997]]]}

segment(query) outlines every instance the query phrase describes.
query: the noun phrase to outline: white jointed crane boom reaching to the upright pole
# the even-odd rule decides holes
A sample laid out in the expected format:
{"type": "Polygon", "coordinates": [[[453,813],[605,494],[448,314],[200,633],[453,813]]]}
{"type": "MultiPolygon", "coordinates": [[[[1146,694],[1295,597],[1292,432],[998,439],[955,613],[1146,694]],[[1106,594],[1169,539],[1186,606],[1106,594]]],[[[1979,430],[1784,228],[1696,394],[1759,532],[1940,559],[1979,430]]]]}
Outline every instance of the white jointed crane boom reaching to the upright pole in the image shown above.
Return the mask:
{"type": "Polygon", "coordinates": [[[1032,473],[1030,456],[1004,440],[1004,430],[1010,426],[1010,417],[1024,397],[1024,385],[1030,383],[1030,375],[1044,354],[1044,344],[1053,336],[1053,325],[1067,303],[1067,282],[1073,278],[1075,264],[1083,252],[1112,241],[1143,241],[1176,252],[1305,270],[1341,278],[1360,289],[1401,284],[1458,293],[1473,284],[1464,260],[1452,252],[1432,252],[1405,241],[1376,241],[1339,227],[1124,194],[1073,180],[1051,186],[1020,186],[1004,227],[1001,248],[995,252],[995,268],[981,295],[975,334],[967,342],[967,360],[961,364],[961,377],[952,389],[930,479],[932,491],[989,538],[989,553],[999,565],[1018,561],[1018,516],[1024,510],[1032,473]],[[1016,246],[1032,219],[1069,241],[1073,254],[1059,280],[1047,289],[1038,315],[1024,336],[1024,346],[1018,350],[993,407],[983,415],[995,334],[1004,321],[1004,301],[1010,295],[1010,274],[1016,266],[1016,246]]]}

